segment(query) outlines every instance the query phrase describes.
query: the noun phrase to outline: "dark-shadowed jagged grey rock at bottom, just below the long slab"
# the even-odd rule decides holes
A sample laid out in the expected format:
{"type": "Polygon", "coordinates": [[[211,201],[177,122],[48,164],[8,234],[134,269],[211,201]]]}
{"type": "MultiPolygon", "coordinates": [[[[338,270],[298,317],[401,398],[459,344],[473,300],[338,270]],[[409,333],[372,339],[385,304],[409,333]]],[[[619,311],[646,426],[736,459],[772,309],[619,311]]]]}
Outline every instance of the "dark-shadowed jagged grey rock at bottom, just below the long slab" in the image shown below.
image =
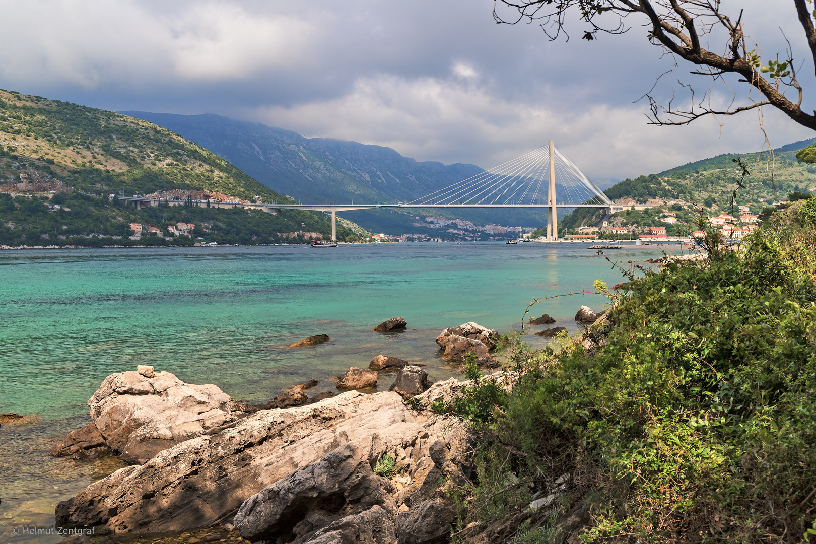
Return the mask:
{"type": "Polygon", "coordinates": [[[345,444],[248,498],[233,524],[251,542],[286,542],[291,528],[309,511],[341,508],[344,514],[356,514],[377,505],[394,515],[397,505],[383,488],[383,481],[371,470],[366,456],[353,444],[345,444]]]}

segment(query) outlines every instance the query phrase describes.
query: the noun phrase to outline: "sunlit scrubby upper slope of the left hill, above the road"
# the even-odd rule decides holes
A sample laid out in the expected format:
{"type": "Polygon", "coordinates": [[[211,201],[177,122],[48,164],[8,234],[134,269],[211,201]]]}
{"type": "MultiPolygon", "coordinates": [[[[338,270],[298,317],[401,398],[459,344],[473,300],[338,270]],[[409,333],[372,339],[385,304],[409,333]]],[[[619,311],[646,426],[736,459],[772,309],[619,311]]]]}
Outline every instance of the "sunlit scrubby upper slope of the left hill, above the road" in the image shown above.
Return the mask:
{"type": "Polygon", "coordinates": [[[223,158],[121,113],[0,91],[0,184],[62,184],[84,192],[197,189],[285,201],[223,158]]]}

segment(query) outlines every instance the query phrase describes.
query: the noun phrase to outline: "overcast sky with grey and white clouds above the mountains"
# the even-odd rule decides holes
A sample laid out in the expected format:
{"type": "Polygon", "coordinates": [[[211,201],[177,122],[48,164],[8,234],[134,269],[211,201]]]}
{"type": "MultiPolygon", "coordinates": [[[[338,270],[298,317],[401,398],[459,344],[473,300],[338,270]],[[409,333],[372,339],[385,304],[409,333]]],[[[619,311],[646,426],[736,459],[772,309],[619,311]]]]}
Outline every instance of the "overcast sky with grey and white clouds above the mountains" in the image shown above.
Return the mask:
{"type": "MultiPolygon", "coordinates": [[[[782,29],[816,91],[792,3],[723,5],[745,8],[763,60],[784,51],[782,29]]],[[[598,180],[761,148],[756,113],[722,128],[647,125],[648,104],[634,102],[673,61],[646,42],[641,20],[595,42],[573,24],[569,42],[548,42],[535,24],[495,24],[492,9],[487,0],[0,0],[0,87],[95,108],[219,113],[485,168],[552,138],[598,180]]],[[[689,70],[681,62],[659,94],[676,89],[687,103],[678,78],[707,87],[689,70]]],[[[724,91],[714,100],[730,100],[724,91]]],[[[774,147],[816,136],[769,108],[764,125],[774,147]]]]}

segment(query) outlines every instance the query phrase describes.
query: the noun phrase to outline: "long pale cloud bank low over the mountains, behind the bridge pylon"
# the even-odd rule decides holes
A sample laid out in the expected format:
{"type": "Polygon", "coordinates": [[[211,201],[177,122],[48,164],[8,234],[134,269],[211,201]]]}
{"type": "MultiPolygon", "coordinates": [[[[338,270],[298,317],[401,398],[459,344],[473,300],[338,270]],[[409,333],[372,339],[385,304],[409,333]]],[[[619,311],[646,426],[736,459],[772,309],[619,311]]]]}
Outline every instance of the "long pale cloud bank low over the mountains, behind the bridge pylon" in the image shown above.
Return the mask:
{"type": "MultiPolygon", "coordinates": [[[[758,150],[764,139],[753,113],[725,120],[719,137],[712,119],[685,127],[648,126],[642,104],[565,110],[546,100],[503,100],[486,86],[455,79],[392,75],[360,78],[353,91],[334,100],[258,108],[242,117],[312,137],[384,145],[417,160],[482,167],[553,139],[593,179],[632,177],[719,153],[758,150]]],[[[765,129],[774,146],[811,133],[773,112],[765,129]]]]}

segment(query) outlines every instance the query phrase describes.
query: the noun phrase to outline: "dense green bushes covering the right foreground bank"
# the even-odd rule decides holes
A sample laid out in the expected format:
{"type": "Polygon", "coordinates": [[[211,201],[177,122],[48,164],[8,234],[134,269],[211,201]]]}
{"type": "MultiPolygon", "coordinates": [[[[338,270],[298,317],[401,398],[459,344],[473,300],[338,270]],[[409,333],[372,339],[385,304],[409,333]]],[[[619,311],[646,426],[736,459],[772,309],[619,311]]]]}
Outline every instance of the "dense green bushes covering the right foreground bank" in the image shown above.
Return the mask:
{"type": "MultiPolygon", "coordinates": [[[[446,405],[485,433],[480,485],[510,470],[548,489],[569,472],[565,500],[592,511],[585,542],[800,542],[816,489],[814,270],[809,228],[629,278],[604,347],[549,347],[512,392],[481,378],[446,405]]],[[[517,490],[496,491],[463,521],[523,511],[517,490]]]]}

